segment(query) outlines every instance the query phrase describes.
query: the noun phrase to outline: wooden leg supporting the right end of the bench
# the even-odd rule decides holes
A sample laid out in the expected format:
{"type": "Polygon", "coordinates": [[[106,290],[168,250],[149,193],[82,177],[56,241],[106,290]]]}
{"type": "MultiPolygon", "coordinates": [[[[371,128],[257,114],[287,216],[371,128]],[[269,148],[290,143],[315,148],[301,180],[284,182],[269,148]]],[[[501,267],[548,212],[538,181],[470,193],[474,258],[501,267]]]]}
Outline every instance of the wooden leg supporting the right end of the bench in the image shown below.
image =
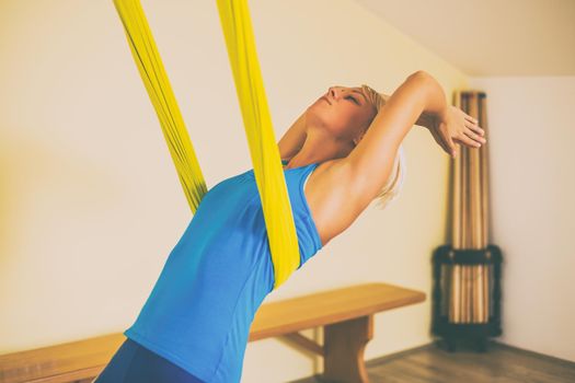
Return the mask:
{"type": "Polygon", "coordinates": [[[323,380],[368,383],[364,349],[373,338],[373,315],[324,326],[323,380]]]}

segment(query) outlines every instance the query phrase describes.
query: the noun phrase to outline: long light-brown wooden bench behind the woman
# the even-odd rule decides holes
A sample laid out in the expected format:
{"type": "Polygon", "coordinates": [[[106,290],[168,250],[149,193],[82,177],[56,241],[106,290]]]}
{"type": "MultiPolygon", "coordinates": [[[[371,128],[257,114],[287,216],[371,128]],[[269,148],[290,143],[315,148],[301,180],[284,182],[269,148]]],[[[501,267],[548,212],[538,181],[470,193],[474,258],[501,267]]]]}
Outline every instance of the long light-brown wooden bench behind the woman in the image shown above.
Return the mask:
{"type": "MultiPolygon", "coordinates": [[[[368,382],[364,349],[373,337],[373,314],[425,301],[425,293],[387,283],[365,283],[264,303],[249,341],[281,337],[323,357],[334,382],[368,382]],[[298,332],[323,326],[323,345],[298,332]]],[[[0,356],[0,383],[89,383],[126,337],[122,333],[0,356]]]]}

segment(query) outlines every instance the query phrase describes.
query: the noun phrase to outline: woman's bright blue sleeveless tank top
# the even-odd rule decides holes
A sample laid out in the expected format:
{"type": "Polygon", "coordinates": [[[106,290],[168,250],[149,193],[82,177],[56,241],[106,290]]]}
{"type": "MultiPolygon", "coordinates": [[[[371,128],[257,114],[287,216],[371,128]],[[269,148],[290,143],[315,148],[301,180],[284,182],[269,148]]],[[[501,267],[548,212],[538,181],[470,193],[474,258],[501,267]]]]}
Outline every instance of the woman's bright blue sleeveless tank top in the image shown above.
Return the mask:
{"type": "MultiPolygon", "coordinates": [[[[284,170],[299,242],[298,269],[322,248],[303,194],[317,166],[284,170]]],[[[267,231],[250,170],[204,195],[124,335],[206,383],[240,382],[253,317],[273,287],[267,231]]]]}

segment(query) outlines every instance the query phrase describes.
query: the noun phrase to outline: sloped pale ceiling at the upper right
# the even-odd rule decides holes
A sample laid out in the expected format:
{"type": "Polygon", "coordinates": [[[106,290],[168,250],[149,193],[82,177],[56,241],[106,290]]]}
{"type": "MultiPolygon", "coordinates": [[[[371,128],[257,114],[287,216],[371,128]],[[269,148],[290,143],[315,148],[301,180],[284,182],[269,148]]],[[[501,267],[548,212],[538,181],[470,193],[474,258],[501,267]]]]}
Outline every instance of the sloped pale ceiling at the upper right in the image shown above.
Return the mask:
{"type": "Polygon", "coordinates": [[[468,76],[575,76],[575,0],[355,1],[468,76]]]}

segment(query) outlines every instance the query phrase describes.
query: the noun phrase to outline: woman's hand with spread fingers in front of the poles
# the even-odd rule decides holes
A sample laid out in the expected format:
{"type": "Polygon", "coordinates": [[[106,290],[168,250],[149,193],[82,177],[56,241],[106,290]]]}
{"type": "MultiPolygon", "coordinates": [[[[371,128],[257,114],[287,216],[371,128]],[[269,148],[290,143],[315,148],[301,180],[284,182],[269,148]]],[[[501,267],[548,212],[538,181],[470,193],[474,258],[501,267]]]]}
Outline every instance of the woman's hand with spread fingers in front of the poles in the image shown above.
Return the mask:
{"type": "Polygon", "coordinates": [[[487,142],[483,137],[485,130],[478,125],[478,120],[452,105],[436,116],[429,131],[435,141],[453,159],[457,155],[455,142],[470,148],[479,148],[487,142]]]}

